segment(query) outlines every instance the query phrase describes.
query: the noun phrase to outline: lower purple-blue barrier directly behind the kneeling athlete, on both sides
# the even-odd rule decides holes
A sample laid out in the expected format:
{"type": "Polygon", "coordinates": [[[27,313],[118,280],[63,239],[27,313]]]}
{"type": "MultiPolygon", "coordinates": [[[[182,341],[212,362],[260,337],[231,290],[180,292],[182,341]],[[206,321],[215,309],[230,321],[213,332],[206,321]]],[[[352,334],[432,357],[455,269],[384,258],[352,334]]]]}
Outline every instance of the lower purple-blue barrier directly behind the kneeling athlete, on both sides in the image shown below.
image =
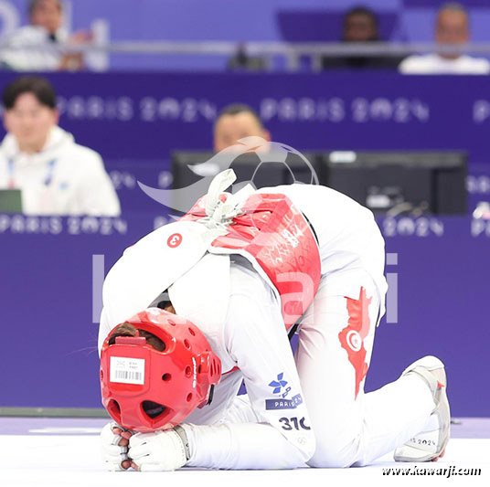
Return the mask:
{"type": "MultiPolygon", "coordinates": [[[[163,222],[165,215],[0,215],[0,406],[100,406],[98,326],[92,323],[99,300],[94,310],[92,281],[104,270],[92,269],[93,256],[104,256],[107,272],[123,249],[163,222]]],[[[396,379],[421,355],[438,355],[447,364],[453,414],[487,415],[482,364],[490,343],[490,223],[401,217],[379,225],[387,252],[397,254],[390,255],[387,272],[398,281],[398,304],[389,295],[398,323],[383,320],[377,330],[368,390],[396,379]]]]}

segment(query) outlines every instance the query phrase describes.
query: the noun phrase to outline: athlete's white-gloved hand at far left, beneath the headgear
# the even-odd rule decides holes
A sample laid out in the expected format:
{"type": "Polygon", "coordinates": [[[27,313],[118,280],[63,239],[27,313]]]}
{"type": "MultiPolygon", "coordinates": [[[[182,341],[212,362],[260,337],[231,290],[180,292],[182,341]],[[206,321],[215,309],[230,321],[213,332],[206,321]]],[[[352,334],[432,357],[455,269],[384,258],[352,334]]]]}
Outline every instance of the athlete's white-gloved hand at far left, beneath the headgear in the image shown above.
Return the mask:
{"type": "Polygon", "coordinates": [[[131,467],[128,443],[132,432],[117,423],[108,423],[101,430],[101,457],[110,471],[124,471],[131,467]]]}

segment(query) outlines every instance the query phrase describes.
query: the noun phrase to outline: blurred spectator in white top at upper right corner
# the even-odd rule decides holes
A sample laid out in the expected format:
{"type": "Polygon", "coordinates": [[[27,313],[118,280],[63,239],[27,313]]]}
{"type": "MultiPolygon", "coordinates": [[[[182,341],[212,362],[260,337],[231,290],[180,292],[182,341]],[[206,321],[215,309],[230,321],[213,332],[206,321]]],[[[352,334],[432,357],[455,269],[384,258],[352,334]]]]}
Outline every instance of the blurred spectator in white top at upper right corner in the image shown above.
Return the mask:
{"type": "MultiPolygon", "coordinates": [[[[466,44],[470,40],[469,24],[463,5],[442,5],[436,17],[436,41],[441,45],[466,44]]],[[[488,74],[490,63],[485,58],[441,52],[410,56],[401,62],[399,71],[403,74],[488,74]]]]}

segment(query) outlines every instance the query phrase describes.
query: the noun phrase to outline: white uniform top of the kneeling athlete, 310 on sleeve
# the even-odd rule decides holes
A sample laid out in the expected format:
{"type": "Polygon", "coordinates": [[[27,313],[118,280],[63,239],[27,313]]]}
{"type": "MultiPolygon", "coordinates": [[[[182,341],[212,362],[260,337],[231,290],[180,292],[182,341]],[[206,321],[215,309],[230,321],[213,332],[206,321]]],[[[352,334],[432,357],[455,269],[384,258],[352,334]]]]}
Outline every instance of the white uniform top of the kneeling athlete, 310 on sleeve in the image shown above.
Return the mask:
{"type": "MultiPolygon", "coordinates": [[[[346,295],[349,284],[343,276],[359,267],[368,270],[384,295],[383,240],[368,209],[322,186],[289,185],[264,188],[261,192],[285,193],[304,212],[319,239],[322,273],[331,277],[337,274],[339,289],[346,295]]],[[[158,254],[164,255],[162,235],[167,238],[165,228],[155,230],[144,242],[140,240],[130,248],[127,259],[123,256],[108,275],[103,289],[99,349],[111,329],[121,323],[119,308],[141,311],[137,306],[128,307],[133,293],[126,288],[136,279],[137,292],[144,293],[145,269],[149,269],[148,281],[152,281],[151,270],[158,262],[158,254]],[[138,275],[124,279],[125,266],[135,273],[135,262],[139,263],[138,275]]],[[[358,299],[358,292],[358,286],[353,287],[354,299],[358,299]]],[[[266,281],[241,256],[207,254],[169,288],[169,294],[177,314],[195,323],[207,336],[221,359],[223,371],[235,365],[240,369],[223,376],[211,405],[196,409],[186,418],[186,424],[196,425],[186,426],[191,447],[189,465],[229,469],[304,465],[314,454],[314,431],[310,428],[281,304],[266,281]],[[223,279],[226,275],[228,281],[223,279]],[[208,319],[220,316],[222,310],[221,323],[218,318],[208,319]],[[237,419],[227,414],[236,404],[242,378],[252,412],[237,419]]],[[[148,304],[155,297],[149,292],[148,304]]]]}

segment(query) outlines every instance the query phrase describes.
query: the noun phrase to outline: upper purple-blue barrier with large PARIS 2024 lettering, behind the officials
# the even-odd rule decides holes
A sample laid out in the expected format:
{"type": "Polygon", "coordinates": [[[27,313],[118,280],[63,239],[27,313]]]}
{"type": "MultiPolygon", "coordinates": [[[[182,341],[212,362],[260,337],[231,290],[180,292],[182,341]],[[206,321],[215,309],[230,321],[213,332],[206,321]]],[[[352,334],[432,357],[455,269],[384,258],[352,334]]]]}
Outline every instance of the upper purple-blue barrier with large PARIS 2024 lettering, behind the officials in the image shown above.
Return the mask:
{"type": "MultiPolygon", "coordinates": [[[[0,73],[0,88],[13,79],[0,73]]],[[[464,150],[488,163],[490,77],[394,73],[51,74],[61,126],[105,159],[212,147],[217,111],[242,101],[302,150],[464,150]]],[[[2,135],[2,133],[0,133],[2,135]]]]}

